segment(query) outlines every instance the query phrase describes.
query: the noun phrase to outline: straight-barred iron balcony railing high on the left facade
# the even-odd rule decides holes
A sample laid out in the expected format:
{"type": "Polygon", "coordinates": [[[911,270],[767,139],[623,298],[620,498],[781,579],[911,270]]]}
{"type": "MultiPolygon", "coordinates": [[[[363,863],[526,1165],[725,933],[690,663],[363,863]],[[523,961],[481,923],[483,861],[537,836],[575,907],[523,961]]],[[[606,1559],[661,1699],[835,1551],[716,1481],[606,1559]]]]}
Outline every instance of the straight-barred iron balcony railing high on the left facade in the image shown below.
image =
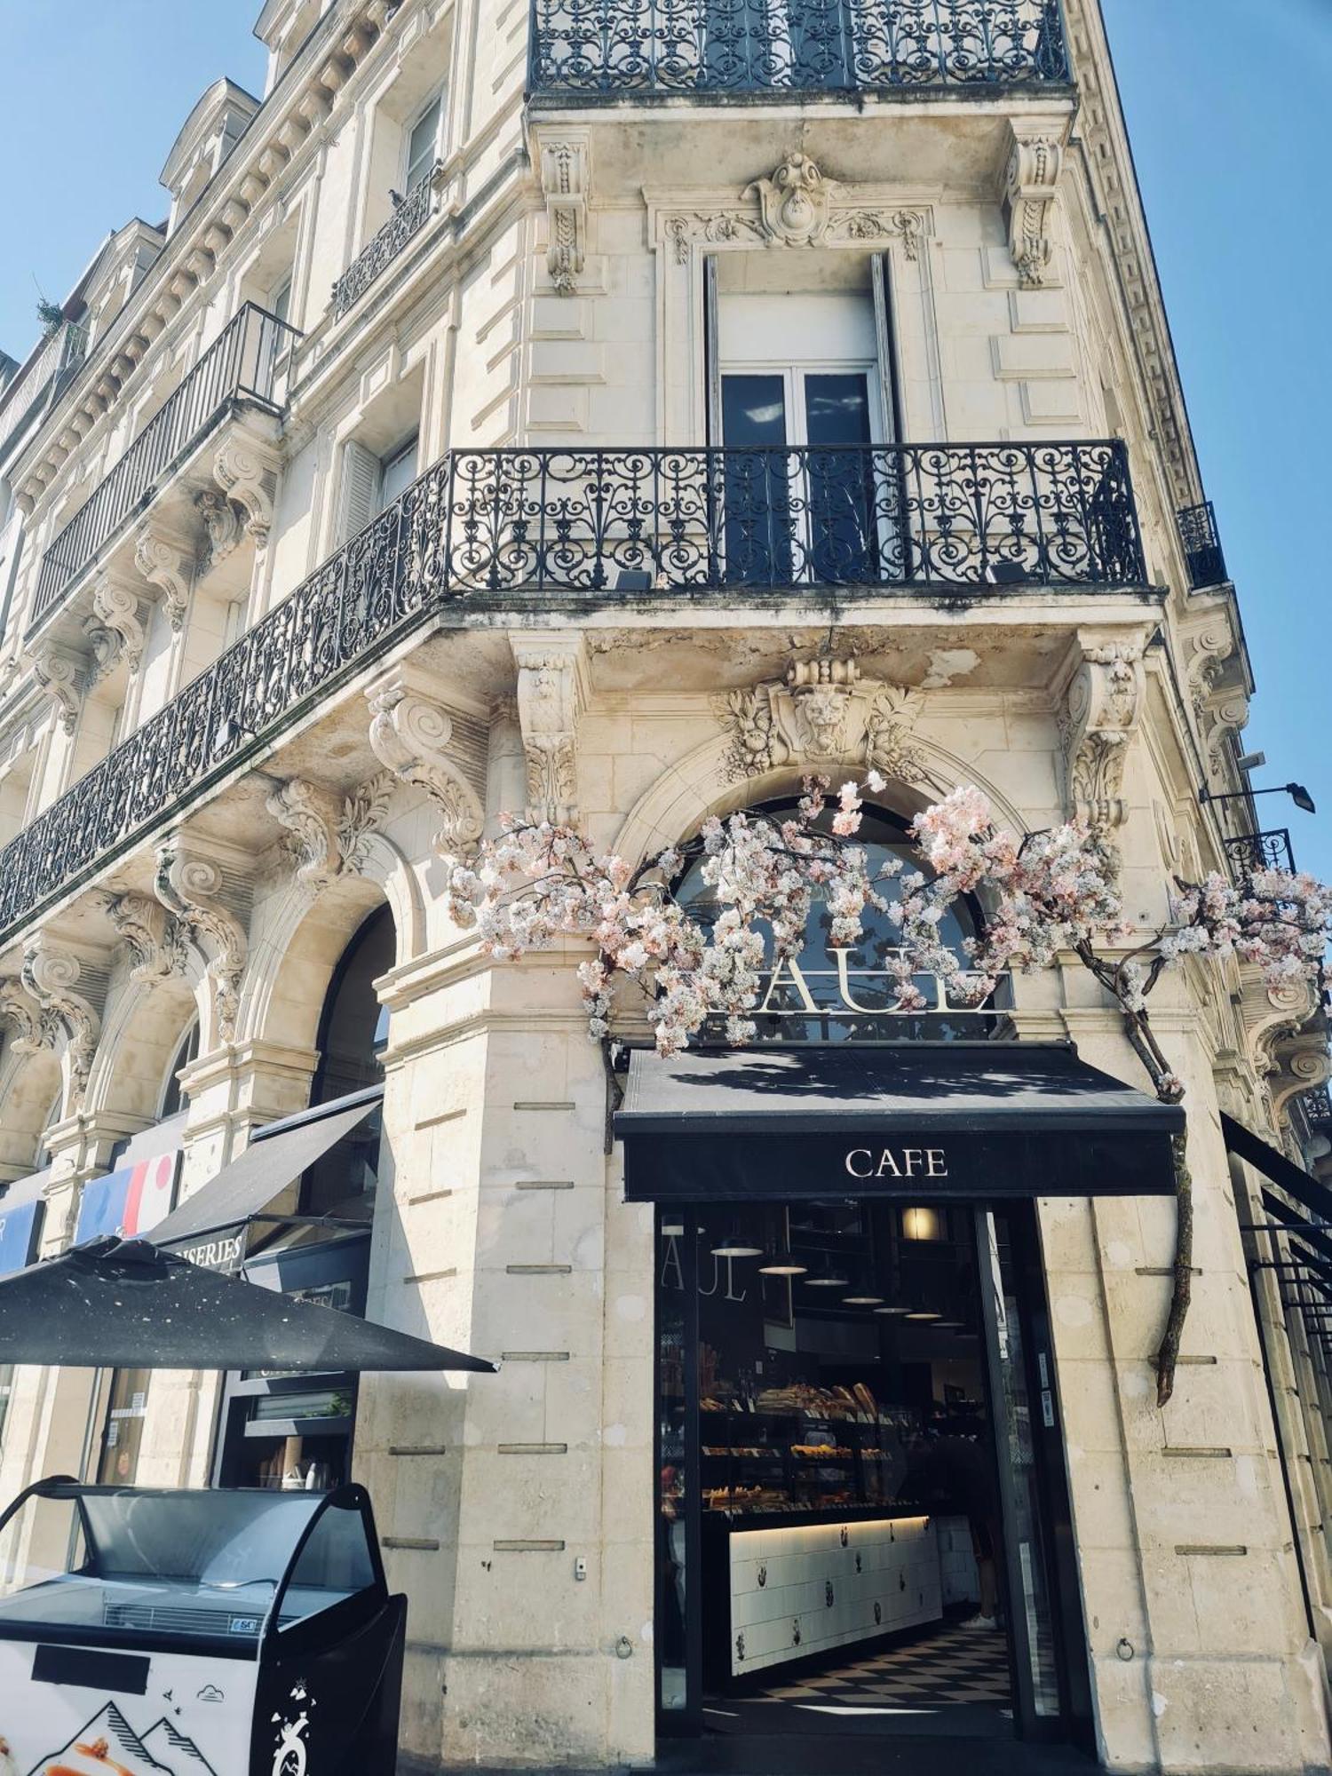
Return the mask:
{"type": "Polygon", "coordinates": [[[28,632],[50,616],[107,543],[142,511],[178,458],[195,448],[233,401],[281,412],[279,385],[295,327],[247,302],[73,515],[43,556],[28,632]]]}

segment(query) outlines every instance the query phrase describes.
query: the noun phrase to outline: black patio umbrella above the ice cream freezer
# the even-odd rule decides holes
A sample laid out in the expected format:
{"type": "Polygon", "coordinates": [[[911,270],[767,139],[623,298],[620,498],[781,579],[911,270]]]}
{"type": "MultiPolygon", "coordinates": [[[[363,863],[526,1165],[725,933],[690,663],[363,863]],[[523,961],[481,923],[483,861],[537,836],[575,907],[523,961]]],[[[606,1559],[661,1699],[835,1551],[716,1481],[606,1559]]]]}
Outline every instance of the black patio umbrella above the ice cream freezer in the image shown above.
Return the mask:
{"type": "Polygon", "coordinates": [[[0,1279],[0,1362],[494,1375],[481,1357],[110,1236],[0,1279]]]}

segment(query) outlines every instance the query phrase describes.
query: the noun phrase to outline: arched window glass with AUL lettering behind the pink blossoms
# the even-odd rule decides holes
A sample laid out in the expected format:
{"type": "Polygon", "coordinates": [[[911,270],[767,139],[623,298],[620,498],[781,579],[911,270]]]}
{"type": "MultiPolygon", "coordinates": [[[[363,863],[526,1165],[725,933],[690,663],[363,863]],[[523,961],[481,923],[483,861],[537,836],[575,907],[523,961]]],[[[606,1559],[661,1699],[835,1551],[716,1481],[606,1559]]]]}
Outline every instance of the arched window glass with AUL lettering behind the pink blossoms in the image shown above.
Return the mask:
{"type": "MultiPolygon", "coordinates": [[[[794,801],[765,803],[757,813],[781,819],[794,801]]],[[[831,815],[828,815],[831,819],[831,815]]],[[[870,876],[877,879],[884,900],[902,893],[902,876],[920,870],[929,876],[904,821],[883,808],[867,808],[860,842],[868,854],[870,876]],[[881,877],[883,865],[897,861],[897,877],[881,877]]],[[[718,915],[712,890],[702,879],[694,858],[677,883],[680,904],[703,925],[718,915]]],[[[984,1041],[1005,1034],[1007,986],[984,1007],[968,1007],[950,995],[932,975],[916,977],[925,1000],[924,1012],[895,1011],[895,977],[888,961],[897,950],[899,932],[892,918],[874,908],[865,909],[861,938],[854,948],[833,948],[829,911],[815,893],[799,955],[773,966],[771,932],[760,927],[767,943],[767,971],[755,1012],[762,1043],[902,1043],[902,1041],[984,1041]]],[[[959,959],[966,943],[980,929],[979,909],[955,902],[943,916],[940,936],[959,959]]]]}

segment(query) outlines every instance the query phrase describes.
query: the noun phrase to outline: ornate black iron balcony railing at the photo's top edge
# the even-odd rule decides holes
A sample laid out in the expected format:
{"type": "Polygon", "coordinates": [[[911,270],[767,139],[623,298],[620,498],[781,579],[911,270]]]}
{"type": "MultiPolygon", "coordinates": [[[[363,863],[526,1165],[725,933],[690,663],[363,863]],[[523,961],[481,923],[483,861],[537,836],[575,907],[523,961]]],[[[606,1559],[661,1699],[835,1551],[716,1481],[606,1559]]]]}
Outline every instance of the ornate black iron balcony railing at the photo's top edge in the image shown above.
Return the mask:
{"type": "Polygon", "coordinates": [[[551,98],[1069,80],[1058,0],[533,0],[529,91],[551,98]]]}

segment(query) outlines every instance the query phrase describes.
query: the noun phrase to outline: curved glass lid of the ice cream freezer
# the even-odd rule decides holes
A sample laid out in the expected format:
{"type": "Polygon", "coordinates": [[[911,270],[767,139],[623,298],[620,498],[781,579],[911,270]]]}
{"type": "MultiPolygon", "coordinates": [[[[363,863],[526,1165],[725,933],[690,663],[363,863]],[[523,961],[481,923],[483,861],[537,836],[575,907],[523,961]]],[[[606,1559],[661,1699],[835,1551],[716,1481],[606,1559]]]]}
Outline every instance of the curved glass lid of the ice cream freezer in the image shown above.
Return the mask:
{"type": "Polygon", "coordinates": [[[258,1641],[384,1588],[368,1501],[44,1483],[0,1527],[0,1639],[32,1627],[119,1639],[258,1641]]]}

